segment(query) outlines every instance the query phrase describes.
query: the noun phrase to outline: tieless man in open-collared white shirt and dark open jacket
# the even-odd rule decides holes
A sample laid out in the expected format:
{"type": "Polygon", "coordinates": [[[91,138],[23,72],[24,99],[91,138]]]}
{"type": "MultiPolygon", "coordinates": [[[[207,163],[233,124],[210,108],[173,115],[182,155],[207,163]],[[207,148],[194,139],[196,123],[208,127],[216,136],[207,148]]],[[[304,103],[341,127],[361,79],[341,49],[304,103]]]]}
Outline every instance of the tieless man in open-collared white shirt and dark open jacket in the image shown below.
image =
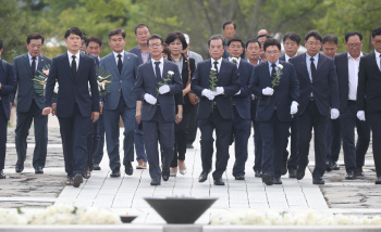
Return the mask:
{"type": "Polygon", "coordinates": [[[357,176],[364,176],[365,154],[370,142],[370,126],[368,121],[359,120],[356,117],[358,66],[361,56],[367,54],[361,52],[362,35],[358,31],[349,31],[345,35],[345,47],[347,52],[335,55],[334,63],[339,78],[340,128],[343,137],[346,179],[354,180],[357,176]],[[356,145],[355,127],[357,127],[358,134],[356,145]]]}

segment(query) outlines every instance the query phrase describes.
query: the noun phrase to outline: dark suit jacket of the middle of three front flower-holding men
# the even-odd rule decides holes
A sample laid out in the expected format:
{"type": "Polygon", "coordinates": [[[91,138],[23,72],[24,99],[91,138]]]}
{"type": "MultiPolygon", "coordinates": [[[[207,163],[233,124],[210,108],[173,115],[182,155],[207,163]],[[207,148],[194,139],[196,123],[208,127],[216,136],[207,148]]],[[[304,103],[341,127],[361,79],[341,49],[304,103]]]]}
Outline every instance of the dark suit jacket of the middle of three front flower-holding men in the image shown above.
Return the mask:
{"type": "MultiPolygon", "coordinates": [[[[212,109],[212,101],[201,96],[205,89],[210,89],[209,75],[211,68],[210,59],[197,64],[195,76],[192,79],[190,89],[200,98],[198,105],[198,118],[208,118],[212,109]]],[[[220,72],[217,75],[217,87],[223,87],[224,93],[217,95],[214,102],[221,116],[225,119],[233,119],[233,100],[232,96],[238,92],[239,74],[235,64],[222,59],[220,72]]]]}

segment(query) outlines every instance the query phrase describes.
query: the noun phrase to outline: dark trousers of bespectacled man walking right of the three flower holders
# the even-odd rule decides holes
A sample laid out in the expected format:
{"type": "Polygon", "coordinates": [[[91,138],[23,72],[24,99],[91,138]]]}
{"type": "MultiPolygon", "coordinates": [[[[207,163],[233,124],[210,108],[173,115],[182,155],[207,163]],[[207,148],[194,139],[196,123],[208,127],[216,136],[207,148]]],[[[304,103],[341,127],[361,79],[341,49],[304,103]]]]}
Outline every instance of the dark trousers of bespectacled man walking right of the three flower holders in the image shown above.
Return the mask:
{"type": "Polygon", "coordinates": [[[309,101],[305,112],[298,116],[298,145],[299,155],[298,168],[306,168],[308,165],[309,143],[315,136],[315,169],[314,178],[321,178],[325,172],[325,131],[328,116],[322,116],[315,101],[309,101]]]}

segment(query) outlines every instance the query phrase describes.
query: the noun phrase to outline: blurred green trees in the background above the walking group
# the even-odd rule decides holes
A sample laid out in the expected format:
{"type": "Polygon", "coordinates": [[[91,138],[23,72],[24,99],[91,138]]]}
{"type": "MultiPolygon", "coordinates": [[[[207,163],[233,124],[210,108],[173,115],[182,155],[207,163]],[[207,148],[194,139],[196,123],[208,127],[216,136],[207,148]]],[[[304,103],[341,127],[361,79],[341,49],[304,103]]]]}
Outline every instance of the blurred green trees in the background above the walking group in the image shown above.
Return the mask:
{"type": "MultiPolygon", "coordinates": [[[[54,56],[63,51],[63,34],[71,26],[87,36],[100,37],[105,44],[101,56],[110,52],[108,33],[118,27],[127,31],[126,49],[136,46],[134,27],[145,22],[151,33],[165,37],[173,30],[190,37],[192,50],[207,56],[206,41],[222,34],[222,24],[234,21],[237,36],[247,40],[261,28],[282,36],[295,31],[302,37],[310,29],[340,38],[344,51],[344,35],[359,30],[364,50],[371,51],[371,30],[380,26],[379,0],[1,0],[0,38],[4,41],[2,57],[12,59],[26,52],[26,35],[39,31],[61,46],[45,48],[54,56]]],[[[304,43],[304,41],[303,41],[304,43]]]]}

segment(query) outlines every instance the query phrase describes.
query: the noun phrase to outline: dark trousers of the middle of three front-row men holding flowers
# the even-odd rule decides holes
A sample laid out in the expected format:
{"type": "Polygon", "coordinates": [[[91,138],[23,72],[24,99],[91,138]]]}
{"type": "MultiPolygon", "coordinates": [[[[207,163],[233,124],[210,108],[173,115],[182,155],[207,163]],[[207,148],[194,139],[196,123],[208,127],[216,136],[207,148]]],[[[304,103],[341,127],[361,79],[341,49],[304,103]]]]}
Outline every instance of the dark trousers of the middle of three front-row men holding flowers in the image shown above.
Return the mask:
{"type": "Polygon", "coordinates": [[[201,131],[201,160],[202,170],[211,169],[213,157],[213,130],[216,129],[216,170],[213,171],[213,179],[217,180],[222,177],[226,170],[229,160],[229,145],[232,140],[232,119],[225,119],[221,116],[218,108],[213,109],[208,118],[198,119],[198,128],[201,131]]]}

